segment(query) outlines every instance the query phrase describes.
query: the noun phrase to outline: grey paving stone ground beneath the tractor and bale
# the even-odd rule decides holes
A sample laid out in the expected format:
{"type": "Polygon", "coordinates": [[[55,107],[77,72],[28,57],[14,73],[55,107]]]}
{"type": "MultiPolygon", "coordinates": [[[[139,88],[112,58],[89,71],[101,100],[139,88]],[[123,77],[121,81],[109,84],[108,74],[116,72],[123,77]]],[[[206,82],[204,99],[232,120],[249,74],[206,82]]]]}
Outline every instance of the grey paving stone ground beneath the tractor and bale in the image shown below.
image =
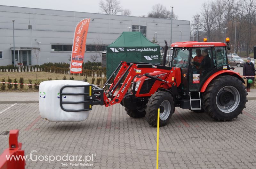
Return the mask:
{"type": "MultiPolygon", "coordinates": [[[[170,123],[160,128],[159,168],[256,168],[255,103],[249,100],[243,114],[231,122],[176,108],[170,123]]],[[[93,106],[83,122],[44,120],[38,103],[0,104],[0,112],[3,110],[0,132],[19,129],[19,142],[28,159],[31,151],[37,151],[26,161],[26,168],[156,168],[156,128],[145,118],[129,117],[120,104],[93,106]],[[93,156],[93,161],[87,162],[93,166],[32,161],[36,156],[42,159],[40,155],[66,154],[82,155],[83,159],[93,156]]],[[[8,135],[0,135],[0,153],[7,147],[8,135]]]]}

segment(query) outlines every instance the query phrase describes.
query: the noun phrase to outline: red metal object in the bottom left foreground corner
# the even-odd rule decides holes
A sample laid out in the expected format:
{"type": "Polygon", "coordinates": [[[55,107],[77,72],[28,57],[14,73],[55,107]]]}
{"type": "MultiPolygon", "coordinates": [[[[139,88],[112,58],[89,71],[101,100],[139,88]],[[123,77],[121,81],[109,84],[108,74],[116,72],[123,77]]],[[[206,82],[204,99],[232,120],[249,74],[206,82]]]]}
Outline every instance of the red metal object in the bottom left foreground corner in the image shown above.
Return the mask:
{"type": "Polygon", "coordinates": [[[22,144],[18,142],[18,136],[19,130],[10,130],[9,148],[0,155],[0,169],[25,169],[24,150],[21,150],[22,144]],[[9,157],[12,159],[8,159],[9,157]]]}

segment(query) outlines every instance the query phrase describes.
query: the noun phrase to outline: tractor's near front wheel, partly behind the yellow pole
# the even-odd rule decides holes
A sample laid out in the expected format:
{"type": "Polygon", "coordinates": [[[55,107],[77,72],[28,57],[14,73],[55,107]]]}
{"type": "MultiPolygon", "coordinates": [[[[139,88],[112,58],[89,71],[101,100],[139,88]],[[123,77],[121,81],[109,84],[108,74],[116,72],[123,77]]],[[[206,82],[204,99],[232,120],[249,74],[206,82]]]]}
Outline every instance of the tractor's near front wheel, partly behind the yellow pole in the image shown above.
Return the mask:
{"type": "Polygon", "coordinates": [[[152,126],[157,126],[157,109],[160,109],[159,126],[164,126],[170,121],[175,110],[173,97],[170,93],[158,91],[148,99],[146,120],[152,126]]]}

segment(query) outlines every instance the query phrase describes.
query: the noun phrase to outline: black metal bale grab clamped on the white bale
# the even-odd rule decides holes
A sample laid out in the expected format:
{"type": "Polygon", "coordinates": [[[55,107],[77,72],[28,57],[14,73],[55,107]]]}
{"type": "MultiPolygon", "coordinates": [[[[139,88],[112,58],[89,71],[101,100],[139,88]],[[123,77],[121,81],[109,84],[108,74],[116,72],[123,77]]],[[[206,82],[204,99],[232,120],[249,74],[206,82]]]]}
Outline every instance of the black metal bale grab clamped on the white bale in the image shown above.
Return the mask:
{"type": "Polygon", "coordinates": [[[67,86],[63,86],[62,88],[60,88],[60,108],[64,111],[73,111],[73,112],[77,112],[77,111],[88,111],[88,110],[92,110],[92,106],[93,105],[104,105],[103,102],[103,89],[95,86],[95,85],[78,85],[78,86],[74,86],[74,85],[67,85],[67,86]],[[81,88],[84,87],[84,92],[83,93],[63,93],[63,89],[65,88],[81,88]],[[65,102],[64,98],[66,95],[73,95],[73,96],[84,96],[84,99],[82,101],[79,102],[65,102]],[[63,104],[74,104],[74,107],[76,106],[76,104],[84,104],[83,108],[84,109],[65,109],[63,107],[63,104]]]}

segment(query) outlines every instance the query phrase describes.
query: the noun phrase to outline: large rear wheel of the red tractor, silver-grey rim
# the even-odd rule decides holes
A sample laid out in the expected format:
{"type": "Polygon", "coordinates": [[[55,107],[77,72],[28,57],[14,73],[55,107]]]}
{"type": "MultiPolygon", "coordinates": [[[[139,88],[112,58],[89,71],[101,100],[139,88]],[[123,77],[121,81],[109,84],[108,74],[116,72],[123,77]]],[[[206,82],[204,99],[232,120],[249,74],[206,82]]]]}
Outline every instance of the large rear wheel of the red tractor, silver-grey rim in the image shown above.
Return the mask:
{"type": "Polygon", "coordinates": [[[247,92],[242,81],[230,75],[214,79],[204,92],[204,108],[215,120],[232,120],[242,114],[247,92]]]}

